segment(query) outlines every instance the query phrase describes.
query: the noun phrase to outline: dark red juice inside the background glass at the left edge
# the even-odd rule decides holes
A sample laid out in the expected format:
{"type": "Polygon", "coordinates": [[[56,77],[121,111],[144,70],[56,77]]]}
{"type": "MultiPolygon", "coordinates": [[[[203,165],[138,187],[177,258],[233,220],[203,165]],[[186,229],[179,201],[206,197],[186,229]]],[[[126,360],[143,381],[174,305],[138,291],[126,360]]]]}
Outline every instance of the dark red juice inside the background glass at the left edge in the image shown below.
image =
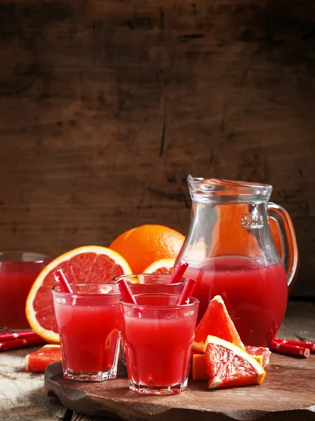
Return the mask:
{"type": "MultiPolygon", "coordinates": [[[[9,264],[18,268],[22,262],[9,264]]],[[[31,328],[25,315],[27,295],[39,272],[47,263],[28,262],[27,264],[33,266],[34,269],[30,272],[14,272],[13,270],[1,272],[0,266],[0,328],[12,330],[31,328]]],[[[8,262],[4,265],[8,265],[8,262]]]]}

